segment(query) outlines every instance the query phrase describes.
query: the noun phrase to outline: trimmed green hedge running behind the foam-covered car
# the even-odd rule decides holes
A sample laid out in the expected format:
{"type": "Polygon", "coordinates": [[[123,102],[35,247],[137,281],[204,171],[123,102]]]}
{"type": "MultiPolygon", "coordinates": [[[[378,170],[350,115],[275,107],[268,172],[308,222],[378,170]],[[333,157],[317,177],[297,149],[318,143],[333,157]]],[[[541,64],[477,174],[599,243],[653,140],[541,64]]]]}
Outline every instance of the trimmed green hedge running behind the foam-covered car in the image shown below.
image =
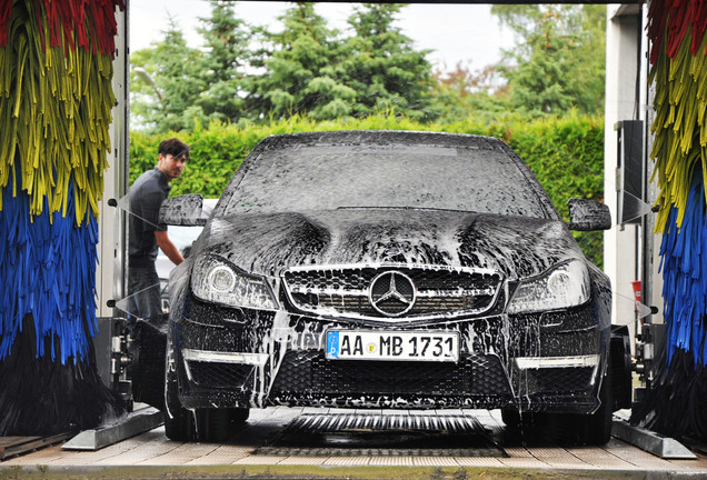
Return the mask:
{"type": "MultiPolygon", "coordinates": [[[[427,130],[498,137],[528,163],[566,221],[567,199],[604,198],[604,119],[577,114],[539,120],[509,116],[490,124],[472,119],[421,124],[394,114],[328,122],[291,118],[246,128],[212,122],[208,127],[197,126],[191,132],[132,132],[130,183],[156,164],[159,142],[177,137],[191,147],[191,152],[185,174],[172,182],[171,196],[200,192],[206,198],[217,198],[248,152],[267,136],[322,130],[427,130]]],[[[601,267],[601,232],[574,233],[585,254],[601,267]]]]}

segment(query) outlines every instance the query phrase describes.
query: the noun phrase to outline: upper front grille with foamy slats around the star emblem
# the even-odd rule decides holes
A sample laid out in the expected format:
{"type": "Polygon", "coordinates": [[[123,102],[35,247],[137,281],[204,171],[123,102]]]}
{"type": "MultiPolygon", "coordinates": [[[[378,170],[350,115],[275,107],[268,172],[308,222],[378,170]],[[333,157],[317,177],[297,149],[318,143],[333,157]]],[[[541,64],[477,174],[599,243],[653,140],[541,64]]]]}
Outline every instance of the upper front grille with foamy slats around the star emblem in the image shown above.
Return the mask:
{"type": "MultiPolygon", "coordinates": [[[[328,317],[404,320],[441,319],[480,314],[489,310],[499,294],[502,278],[490,270],[451,268],[409,268],[399,266],[331,268],[293,268],[283,274],[290,301],[299,310],[328,317]],[[385,296],[371,286],[382,273],[395,272],[411,281],[415,298],[411,307],[396,306],[396,298],[374,306],[372,298],[385,296]],[[381,310],[386,310],[382,312],[381,310]]],[[[409,286],[398,290],[411,299],[409,286]]],[[[381,289],[381,284],[377,284],[381,289]]]]}

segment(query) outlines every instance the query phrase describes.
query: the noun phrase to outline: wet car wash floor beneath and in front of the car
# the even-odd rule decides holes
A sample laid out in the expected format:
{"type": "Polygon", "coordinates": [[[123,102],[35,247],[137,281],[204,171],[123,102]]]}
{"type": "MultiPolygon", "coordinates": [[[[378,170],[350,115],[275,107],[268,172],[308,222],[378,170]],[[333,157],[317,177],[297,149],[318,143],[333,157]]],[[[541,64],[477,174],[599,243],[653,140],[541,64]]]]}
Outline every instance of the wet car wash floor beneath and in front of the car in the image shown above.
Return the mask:
{"type": "Polygon", "coordinates": [[[693,447],[696,460],[660,459],[617,438],[604,447],[552,444],[511,433],[496,410],[269,408],[252,410],[225,443],[175,442],[158,427],[98,451],[58,444],[10,458],[0,479],[707,478],[707,450],[693,447]],[[352,422],[361,416],[368,428],[352,422]],[[370,428],[381,419],[388,433],[370,428]]]}

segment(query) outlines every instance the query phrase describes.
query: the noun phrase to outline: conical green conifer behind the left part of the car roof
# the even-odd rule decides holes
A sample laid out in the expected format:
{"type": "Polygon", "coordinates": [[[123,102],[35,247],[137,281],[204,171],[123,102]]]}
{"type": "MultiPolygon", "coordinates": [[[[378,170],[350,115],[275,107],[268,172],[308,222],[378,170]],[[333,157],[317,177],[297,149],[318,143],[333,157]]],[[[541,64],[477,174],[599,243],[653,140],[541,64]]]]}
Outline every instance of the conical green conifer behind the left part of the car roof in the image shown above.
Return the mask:
{"type": "Polygon", "coordinates": [[[348,116],[356,91],[339,80],[337,32],[327,28],[313,3],[296,3],[279,20],[283,30],[267,36],[273,50],[263,61],[267,72],[253,84],[263,113],[317,120],[348,116]]]}

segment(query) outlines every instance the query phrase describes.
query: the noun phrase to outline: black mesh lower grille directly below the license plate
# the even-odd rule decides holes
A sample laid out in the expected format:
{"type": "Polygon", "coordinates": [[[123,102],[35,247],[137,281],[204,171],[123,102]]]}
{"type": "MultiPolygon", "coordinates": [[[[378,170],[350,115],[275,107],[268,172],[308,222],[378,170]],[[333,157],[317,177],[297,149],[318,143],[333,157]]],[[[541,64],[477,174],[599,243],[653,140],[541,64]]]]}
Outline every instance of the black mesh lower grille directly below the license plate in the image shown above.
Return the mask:
{"type": "Polygon", "coordinates": [[[327,360],[320,351],[288,352],[271,396],[298,393],[464,397],[510,394],[508,378],[494,356],[458,363],[327,360]]]}

